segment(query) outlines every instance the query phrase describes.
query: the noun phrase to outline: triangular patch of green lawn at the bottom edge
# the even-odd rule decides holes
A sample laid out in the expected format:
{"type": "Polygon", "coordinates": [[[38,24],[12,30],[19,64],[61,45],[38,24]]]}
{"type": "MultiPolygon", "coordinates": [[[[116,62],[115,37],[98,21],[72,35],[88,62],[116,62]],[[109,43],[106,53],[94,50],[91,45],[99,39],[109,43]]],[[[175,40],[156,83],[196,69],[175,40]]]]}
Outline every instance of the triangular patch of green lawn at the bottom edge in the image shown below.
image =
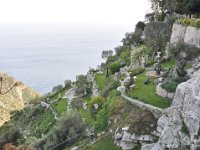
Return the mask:
{"type": "Polygon", "coordinates": [[[97,143],[86,148],[87,150],[120,150],[119,147],[115,146],[112,137],[106,136],[97,143]]]}

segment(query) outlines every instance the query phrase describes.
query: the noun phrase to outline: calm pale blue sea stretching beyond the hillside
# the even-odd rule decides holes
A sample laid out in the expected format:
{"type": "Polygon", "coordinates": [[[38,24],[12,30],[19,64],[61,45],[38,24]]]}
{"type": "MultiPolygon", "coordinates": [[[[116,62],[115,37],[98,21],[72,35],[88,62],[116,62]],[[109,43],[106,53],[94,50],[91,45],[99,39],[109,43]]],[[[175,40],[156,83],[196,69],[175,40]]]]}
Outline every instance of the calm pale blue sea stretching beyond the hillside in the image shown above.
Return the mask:
{"type": "Polygon", "coordinates": [[[88,24],[0,25],[0,72],[45,94],[75,80],[120,45],[130,27],[88,24]]]}

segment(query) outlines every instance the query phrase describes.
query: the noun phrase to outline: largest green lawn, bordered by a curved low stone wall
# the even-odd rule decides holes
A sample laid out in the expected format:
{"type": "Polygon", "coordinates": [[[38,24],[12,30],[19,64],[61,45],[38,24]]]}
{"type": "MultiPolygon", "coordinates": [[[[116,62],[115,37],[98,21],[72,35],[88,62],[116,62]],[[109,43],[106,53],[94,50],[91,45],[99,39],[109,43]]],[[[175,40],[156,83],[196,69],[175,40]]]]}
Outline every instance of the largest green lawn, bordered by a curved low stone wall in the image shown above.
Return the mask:
{"type": "Polygon", "coordinates": [[[146,79],[145,73],[142,73],[137,76],[136,80],[136,88],[133,90],[128,90],[128,96],[132,98],[136,98],[145,103],[151,104],[160,108],[167,108],[170,106],[170,101],[160,97],[156,94],[156,85],[153,83],[151,79],[151,83],[148,85],[144,84],[144,80],[146,79]]]}

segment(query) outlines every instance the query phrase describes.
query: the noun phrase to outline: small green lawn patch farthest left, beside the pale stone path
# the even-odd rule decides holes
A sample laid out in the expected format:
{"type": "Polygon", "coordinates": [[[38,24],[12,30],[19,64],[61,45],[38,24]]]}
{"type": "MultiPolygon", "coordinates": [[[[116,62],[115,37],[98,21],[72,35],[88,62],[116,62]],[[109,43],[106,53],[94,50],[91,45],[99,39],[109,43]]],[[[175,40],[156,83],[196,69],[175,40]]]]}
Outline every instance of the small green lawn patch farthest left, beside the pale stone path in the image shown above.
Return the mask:
{"type": "Polygon", "coordinates": [[[56,104],[53,104],[54,108],[56,109],[58,115],[60,116],[63,112],[67,111],[67,99],[62,98],[56,104]]]}

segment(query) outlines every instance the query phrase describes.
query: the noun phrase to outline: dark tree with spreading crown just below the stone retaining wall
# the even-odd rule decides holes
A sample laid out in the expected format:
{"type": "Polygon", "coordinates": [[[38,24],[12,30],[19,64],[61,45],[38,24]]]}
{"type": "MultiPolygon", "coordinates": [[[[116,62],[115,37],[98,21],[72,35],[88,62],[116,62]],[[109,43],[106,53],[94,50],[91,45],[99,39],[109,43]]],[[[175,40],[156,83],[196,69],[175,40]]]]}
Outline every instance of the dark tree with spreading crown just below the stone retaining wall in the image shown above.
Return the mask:
{"type": "Polygon", "coordinates": [[[170,45],[169,50],[176,58],[175,74],[183,77],[186,75],[185,65],[188,60],[192,60],[200,54],[199,48],[179,42],[176,45],[170,45]]]}

